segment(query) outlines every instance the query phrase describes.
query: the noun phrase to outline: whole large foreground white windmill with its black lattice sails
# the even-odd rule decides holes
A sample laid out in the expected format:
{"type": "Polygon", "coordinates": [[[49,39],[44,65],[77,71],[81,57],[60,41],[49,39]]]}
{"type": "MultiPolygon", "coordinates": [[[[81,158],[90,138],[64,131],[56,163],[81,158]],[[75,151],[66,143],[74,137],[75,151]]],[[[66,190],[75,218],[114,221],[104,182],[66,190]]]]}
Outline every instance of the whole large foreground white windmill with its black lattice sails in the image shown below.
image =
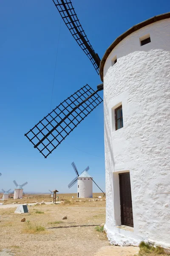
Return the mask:
{"type": "Polygon", "coordinates": [[[102,102],[104,88],[107,236],[112,244],[151,239],[170,248],[170,12],[127,30],[100,61],[71,1],[53,2],[104,86],[80,88],[25,136],[48,157],[102,102]]]}

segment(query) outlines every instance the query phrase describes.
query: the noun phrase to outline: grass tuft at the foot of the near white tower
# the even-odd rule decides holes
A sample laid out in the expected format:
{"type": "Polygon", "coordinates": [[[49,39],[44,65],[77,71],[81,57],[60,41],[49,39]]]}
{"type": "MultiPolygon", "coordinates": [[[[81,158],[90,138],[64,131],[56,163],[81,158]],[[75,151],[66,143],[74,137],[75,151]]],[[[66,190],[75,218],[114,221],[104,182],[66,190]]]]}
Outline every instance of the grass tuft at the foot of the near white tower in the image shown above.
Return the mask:
{"type": "Polygon", "coordinates": [[[142,241],[139,244],[140,250],[139,250],[139,256],[156,256],[156,255],[161,255],[164,256],[166,253],[164,252],[164,249],[156,246],[153,247],[153,245],[149,243],[145,243],[142,241]]]}

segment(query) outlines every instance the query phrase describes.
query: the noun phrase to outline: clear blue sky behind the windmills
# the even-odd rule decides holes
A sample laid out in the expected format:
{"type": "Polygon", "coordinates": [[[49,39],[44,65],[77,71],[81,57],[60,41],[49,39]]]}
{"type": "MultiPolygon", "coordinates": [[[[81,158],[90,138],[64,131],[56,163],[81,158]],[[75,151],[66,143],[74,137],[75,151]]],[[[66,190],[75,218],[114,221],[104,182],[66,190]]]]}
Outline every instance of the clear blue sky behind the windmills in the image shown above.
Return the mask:
{"type": "MultiPolygon", "coordinates": [[[[100,58],[131,26],[170,11],[169,0],[72,3],[100,58]]],[[[0,1],[0,189],[14,189],[16,179],[28,181],[25,191],[77,192],[76,185],[67,186],[75,177],[74,161],[79,172],[89,165],[105,190],[102,104],[47,159],[24,137],[50,111],[59,24],[52,0],[0,1]]],[[[52,108],[87,83],[96,89],[99,76],[62,21],[52,108]]]]}

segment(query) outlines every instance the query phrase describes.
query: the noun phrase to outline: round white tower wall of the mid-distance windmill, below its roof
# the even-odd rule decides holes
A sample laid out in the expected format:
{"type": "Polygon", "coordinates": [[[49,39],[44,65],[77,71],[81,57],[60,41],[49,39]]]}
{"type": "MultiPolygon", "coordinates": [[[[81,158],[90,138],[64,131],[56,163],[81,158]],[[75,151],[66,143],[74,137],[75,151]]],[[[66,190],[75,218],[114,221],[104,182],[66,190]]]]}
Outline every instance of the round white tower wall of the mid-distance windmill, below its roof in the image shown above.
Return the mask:
{"type": "Polygon", "coordinates": [[[77,193],[79,198],[92,198],[93,197],[93,180],[89,177],[78,178],[77,193]]]}

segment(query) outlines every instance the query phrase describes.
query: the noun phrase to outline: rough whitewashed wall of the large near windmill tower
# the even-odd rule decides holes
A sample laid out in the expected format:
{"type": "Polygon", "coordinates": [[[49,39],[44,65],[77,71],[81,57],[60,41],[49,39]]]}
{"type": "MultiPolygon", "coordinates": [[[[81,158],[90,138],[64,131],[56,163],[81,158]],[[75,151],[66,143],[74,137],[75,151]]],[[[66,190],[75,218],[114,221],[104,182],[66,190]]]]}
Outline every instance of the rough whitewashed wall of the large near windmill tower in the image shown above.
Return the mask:
{"type": "Polygon", "coordinates": [[[170,248],[170,19],[133,32],[104,66],[106,224],[112,244],[170,248]],[[139,38],[150,34],[151,43],[139,38]],[[117,57],[117,63],[111,60],[117,57]],[[124,127],[115,131],[122,104],[124,127]],[[133,231],[122,230],[119,173],[130,172],[133,231]]]}

